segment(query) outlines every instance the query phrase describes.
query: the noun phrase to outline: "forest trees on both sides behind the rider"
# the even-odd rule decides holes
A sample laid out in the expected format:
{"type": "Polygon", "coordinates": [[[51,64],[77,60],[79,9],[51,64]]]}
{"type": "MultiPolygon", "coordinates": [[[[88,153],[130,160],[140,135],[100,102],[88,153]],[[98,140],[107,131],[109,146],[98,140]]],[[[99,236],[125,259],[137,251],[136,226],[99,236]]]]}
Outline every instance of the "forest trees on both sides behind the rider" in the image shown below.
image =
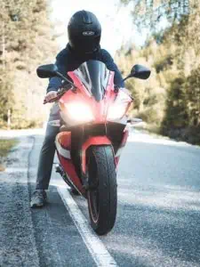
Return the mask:
{"type": "MultiPolygon", "coordinates": [[[[148,82],[127,81],[135,99],[132,116],[141,117],[150,131],[200,144],[199,1],[117,4],[130,11],[139,32],[148,29],[145,44],[136,46],[130,32],[130,41],[116,53],[124,76],[134,63],[152,70],[148,82]]],[[[0,5],[0,128],[41,126],[48,113],[46,84],[36,77],[36,67],[54,61],[59,50],[49,1],[0,0],[0,5]]]]}

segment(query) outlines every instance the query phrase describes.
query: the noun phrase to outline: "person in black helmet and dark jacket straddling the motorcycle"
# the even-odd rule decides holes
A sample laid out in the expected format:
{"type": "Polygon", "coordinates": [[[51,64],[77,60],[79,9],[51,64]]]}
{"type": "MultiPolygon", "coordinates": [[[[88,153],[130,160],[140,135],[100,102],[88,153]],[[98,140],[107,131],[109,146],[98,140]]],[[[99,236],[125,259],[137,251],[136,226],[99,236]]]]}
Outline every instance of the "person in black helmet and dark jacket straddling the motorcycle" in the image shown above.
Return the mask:
{"type": "MultiPolygon", "coordinates": [[[[92,12],[76,12],[68,23],[68,44],[56,57],[56,65],[63,75],[77,69],[89,60],[102,61],[109,70],[115,72],[114,83],[117,87],[124,87],[123,78],[116,67],[111,55],[100,48],[101,27],[97,17],[92,12]]],[[[112,42],[112,40],[110,40],[112,42]]],[[[60,77],[52,77],[47,87],[44,101],[49,102],[56,97],[61,85],[60,77]]],[[[49,121],[60,119],[58,104],[52,106],[49,121]]],[[[44,143],[40,152],[36,177],[36,190],[31,199],[31,206],[44,206],[46,192],[52,174],[52,163],[55,154],[54,140],[59,133],[59,127],[47,125],[44,143]]]]}

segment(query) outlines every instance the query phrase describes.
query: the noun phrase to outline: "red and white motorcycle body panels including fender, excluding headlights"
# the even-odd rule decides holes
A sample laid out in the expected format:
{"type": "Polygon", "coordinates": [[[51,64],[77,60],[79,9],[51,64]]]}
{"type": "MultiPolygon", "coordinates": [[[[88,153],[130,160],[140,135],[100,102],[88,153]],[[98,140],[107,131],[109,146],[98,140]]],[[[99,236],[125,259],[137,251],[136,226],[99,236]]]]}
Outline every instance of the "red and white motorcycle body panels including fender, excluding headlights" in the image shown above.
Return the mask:
{"type": "MultiPolygon", "coordinates": [[[[92,125],[107,125],[108,122],[108,109],[113,104],[120,103],[121,106],[124,107],[122,109],[122,117],[124,117],[127,109],[129,108],[132,99],[131,97],[125,93],[123,90],[119,91],[118,93],[114,90],[114,72],[110,71],[108,74],[108,85],[106,88],[105,95],[102,100],[96,101],[95,98],[92,96],[92,94],[85,88],[84,84],[81,82],[81,79],[77,77],[76,72],[71,71],[68,72],[68,76],[72,78],[75,86],[76,91],[68,90],[65,94],[62,95],[60,98],[59,104],[60,104],[60,110],[61,114],[63,114],[64,120],[66,121],[67,125],[82,125],[84,129],[84,123],[78,122],[75,120],[70,121],[70,117],[68,117],[68,105],[71,103],[84,103],[86,106],[88,106],[90,109],[92,109],[92,121],[88,122],[92,125]],[[68,120],[69,119],[69,120],[68,120]]],[[[63,118],[63,117],[62,117],[63,118]]],[[[121,118],[119,118],[120,120],[121,118]]],[[[73,162],[70,158],[70,152],[71,152],[71,133],[65,132],[58,134],[57,141],[60,143],[61,147],[64,148],[64,150],[60,149],[58,150],[58,157],[60,159],[60,164],[63,166],[65,172],[68,174],[69,179],[74,183],[77,190],[79,190],[82,194],[85,193],[85,190],[82,185],[81,177],[78,177],[76,174],[75,166],[73,165],[73,162]]],[[[119,147],[119,149],[116,151],[115,162],[116,165],[118,164],[120,152],[122,148],[125,145],[125,142],[128,137],[128,131],[124,131],[124,136],[122,143],[119,147]]],[[[87,165],[87,158],[86,158],[86,151],[90,146],[100,146],[100,145],[109,145],[112,147],[112,143],[108,139],[107,136],[92,136],[90,137],[84,144],[82,145],[82,171],[83,174],[86,174],[86,165],[87,165]]],[[[113,150],[114,153],[114,150],[113,150]]]]}

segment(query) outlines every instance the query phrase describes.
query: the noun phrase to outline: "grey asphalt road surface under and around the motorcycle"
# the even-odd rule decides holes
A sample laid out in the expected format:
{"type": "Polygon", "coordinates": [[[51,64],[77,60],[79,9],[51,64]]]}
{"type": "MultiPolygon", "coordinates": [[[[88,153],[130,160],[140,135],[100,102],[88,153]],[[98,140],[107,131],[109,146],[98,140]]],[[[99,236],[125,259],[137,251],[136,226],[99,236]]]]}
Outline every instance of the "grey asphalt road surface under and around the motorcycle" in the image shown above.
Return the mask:
{"type": "Polygon", "coordinates": [[[44,136],[24,135],[0,173],[1,267],[107,267],[96,255],[109,256],[110,266],[200,266],[200,148],[132,133],[118,168],[115,228],[94,239],[81,229],[89,225],[86,201],[70,197],[68,208],[54,172],[48,206],[30,210],[44,136]],[[73,219],[75,207],[84,223],[73,219]]]}

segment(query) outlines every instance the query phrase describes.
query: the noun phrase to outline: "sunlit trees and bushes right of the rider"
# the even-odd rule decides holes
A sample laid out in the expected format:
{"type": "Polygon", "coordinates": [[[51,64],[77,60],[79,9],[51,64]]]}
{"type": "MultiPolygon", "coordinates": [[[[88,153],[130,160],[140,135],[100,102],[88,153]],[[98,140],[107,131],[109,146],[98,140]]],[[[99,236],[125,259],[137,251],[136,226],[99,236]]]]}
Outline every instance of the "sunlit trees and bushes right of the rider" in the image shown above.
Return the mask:
{"type": "Polygon", "coordinates": [[[133,23],[144,27],[146,16],[152,35],[142,48],[132,45],[129,51],[122,48],[117,55],[124,73],[136,63],[152,70],[148,82],[127,82],[135,98],[132,114],[147,122],[150,131],[200,144],[200,3],[138,3],[134,11],[141,15],[133,12],[133,23]],[[159,31],[156,25],[162,18],[168,20],[168,27],[159,31]]]}

